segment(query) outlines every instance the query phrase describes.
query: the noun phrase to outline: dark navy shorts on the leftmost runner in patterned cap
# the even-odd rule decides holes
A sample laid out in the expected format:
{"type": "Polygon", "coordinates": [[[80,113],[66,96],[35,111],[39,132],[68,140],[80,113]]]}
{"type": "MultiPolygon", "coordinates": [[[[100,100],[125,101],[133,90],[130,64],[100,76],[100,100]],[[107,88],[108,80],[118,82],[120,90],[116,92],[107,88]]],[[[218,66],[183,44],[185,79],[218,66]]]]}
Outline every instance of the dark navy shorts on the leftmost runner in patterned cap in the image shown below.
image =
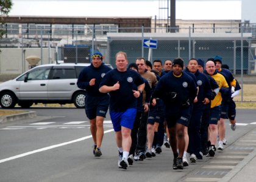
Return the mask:
{"type": "Polygon", "coordinates": [[[89,120],[93,120],[96,116],[105,118],[109,106],[110,96],[86,96],[85,97],[85,113],[89,120]]]}

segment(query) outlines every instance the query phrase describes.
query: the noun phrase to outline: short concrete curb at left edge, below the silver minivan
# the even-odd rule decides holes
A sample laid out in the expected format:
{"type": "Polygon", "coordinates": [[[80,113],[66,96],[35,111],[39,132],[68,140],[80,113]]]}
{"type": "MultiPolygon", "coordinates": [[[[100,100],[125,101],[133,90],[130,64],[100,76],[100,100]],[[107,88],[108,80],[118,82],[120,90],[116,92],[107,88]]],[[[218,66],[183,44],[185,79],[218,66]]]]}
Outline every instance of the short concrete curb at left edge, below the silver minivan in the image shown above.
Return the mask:
{"type": "Polygon", "coordinates": [[[7,123],[10,121],[24,120],[28,118],[37,117],[37,112],[29,111],[25,113],[18,113],[14,115],[0,116],[0,123],[7,123]]]}

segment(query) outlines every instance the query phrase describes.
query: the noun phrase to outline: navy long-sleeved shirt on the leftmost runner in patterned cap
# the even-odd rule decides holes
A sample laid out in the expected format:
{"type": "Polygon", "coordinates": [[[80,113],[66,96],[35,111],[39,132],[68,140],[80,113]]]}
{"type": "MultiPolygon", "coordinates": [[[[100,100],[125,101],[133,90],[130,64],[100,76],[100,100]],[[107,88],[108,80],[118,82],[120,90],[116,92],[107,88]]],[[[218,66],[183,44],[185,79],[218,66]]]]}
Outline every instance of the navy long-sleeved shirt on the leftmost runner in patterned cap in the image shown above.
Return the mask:
{"type": "Polygon", "coordinates": [[[99,92],[99,83],[101,83],[102,78],[105,76],[105,73],[112,70],[110,67],[102,64],[100,67],[95,68],[92,64],[85,67],[80,72],[77,79],[77,87],[79,89],[84,89],[87,91],[87,95],[90,96],[104,96],[107,93],[99,92]],[[96,78],[94,86],[90,86],[90,80],[96,78]]]}

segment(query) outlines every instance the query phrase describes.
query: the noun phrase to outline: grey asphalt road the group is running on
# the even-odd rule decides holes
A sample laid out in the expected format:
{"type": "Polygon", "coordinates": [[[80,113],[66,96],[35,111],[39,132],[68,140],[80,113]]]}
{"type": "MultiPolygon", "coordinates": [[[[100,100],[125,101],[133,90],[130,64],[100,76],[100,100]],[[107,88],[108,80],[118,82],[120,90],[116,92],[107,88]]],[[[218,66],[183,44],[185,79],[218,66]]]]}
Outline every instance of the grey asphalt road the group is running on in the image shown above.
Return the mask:
{"type": "Polygon", "coordinates": [[[172,170],[172,152],[163,146],[161,154],[124,170],[117,166],[109,116],[104,122],[103,155],[95,158],[84,109],[28,110],[37,112],[37,118],[0,124],[0,181],[218,181],[235,175],[232,169],[243,167],[243,159],[256,147],[248,139],[256,129],[256,110],[237,110],[237,129],[231,131],[226,122],[228,144],[214,158],[172,170]]]}

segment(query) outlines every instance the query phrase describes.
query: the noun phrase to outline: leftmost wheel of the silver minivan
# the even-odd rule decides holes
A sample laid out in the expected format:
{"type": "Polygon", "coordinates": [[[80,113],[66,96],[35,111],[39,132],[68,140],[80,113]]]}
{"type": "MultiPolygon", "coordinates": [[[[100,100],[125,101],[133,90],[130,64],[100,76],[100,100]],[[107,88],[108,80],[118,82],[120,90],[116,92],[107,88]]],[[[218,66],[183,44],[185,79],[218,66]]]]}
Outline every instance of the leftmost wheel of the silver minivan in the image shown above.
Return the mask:
{"type": "Polygon", "coordinates": [[[0,99],[0,105],[4,109],[12,109],[16,105],[16,96],[12,92],[2,92],[0,99]]]}

